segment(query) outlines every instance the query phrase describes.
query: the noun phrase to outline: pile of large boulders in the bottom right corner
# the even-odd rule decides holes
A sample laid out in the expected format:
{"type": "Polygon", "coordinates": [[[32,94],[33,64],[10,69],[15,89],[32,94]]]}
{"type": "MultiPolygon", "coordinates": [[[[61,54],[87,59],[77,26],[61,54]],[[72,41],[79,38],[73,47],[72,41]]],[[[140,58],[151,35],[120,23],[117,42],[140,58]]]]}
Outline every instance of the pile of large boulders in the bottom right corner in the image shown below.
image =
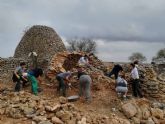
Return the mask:
{"type": "Polygon", "coordinates": [[[165,104],[146,99],[132,100],[122,105],[121,111],[133,124],[164,124],[165,104]]]}

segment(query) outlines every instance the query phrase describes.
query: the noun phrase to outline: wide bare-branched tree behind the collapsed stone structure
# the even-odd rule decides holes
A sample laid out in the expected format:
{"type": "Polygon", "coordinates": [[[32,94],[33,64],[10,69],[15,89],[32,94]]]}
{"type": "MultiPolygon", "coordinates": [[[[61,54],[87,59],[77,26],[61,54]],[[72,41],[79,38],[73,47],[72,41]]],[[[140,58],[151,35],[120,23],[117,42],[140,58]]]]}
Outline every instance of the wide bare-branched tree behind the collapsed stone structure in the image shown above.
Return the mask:
{"type": "Polygon", "coordinates": [[[87,53],[96,53],[96,42],[88,38],[67,40],[69,51],[83,51],[87,53]]]}

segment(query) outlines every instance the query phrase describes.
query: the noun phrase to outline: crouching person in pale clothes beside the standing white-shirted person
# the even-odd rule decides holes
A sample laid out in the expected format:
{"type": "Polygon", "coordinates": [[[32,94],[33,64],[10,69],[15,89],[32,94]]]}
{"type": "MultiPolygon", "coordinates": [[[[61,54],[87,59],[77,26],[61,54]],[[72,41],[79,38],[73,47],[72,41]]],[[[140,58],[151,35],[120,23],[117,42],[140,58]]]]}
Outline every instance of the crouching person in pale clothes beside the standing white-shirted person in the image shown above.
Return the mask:
{"type": "Polygon", "coordinates": [[[126,99],[128,87],[127,81],[125,80],[125,74],[122,74],[121,77],[118,76],[116,81],[116,92],[118,95],[123,94],[123,98],[126,99]]]}

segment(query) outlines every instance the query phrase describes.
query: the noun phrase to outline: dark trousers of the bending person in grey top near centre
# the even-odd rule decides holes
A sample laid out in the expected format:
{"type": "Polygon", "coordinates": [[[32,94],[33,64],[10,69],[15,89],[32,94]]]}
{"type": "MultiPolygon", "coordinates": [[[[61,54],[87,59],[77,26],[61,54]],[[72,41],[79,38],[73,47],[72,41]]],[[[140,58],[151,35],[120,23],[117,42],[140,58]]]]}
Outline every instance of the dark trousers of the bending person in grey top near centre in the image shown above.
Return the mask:
{"type": "Polygon", "coordinates": [[[62,95],[66,96],[66,85],[65,85],[64,79],[62,77],[59,77],[59,76],[57,76],[56,79],[59,82],[57,91],[59,93],[61,93],[61,90],[62,90],[62,95]]]}

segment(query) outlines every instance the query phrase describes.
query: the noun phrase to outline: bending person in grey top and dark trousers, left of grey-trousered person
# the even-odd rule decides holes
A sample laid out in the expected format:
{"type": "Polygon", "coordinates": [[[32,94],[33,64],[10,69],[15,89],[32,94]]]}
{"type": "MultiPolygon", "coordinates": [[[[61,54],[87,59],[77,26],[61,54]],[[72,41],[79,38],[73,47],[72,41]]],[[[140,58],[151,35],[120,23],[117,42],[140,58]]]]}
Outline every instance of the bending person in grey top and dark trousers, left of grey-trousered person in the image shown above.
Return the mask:
{"type": "Polygon", "coordinates": [[[56,79],[59,82],[59,86],[57,88],[57,91],[61,94],[62,90],[62,95],[66,97],[66,88],[67,85],[69,85],[69,79],[71,77],[72,73],[70,71],[68,72],[61,72],[57,74],[56,79]]]}

